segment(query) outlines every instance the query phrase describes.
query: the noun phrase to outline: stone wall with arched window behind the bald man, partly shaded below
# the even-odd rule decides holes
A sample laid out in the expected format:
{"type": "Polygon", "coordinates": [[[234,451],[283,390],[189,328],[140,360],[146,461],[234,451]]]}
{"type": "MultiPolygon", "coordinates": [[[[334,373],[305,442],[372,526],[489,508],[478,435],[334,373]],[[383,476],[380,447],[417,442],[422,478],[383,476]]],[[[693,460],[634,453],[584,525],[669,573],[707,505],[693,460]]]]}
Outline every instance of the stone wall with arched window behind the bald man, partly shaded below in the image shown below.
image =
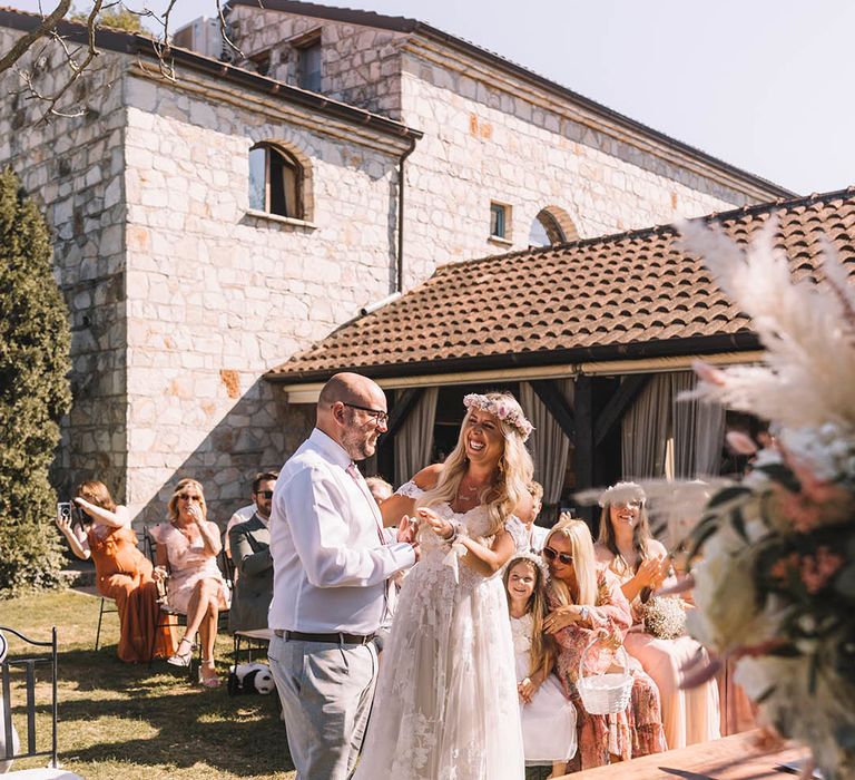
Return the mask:
{"type": "Polygon", "coordinates": [[[394,272],[400,149],[191,82],[135,75],[126,89],[128,500],[146,521],[183,476],[217,520],[247,503],[252,475],[284,462],[314,411],[261,376],[385,296],[394,272]],[[261,140],[311,166],[311,223],[249,213],[261,140]]]}

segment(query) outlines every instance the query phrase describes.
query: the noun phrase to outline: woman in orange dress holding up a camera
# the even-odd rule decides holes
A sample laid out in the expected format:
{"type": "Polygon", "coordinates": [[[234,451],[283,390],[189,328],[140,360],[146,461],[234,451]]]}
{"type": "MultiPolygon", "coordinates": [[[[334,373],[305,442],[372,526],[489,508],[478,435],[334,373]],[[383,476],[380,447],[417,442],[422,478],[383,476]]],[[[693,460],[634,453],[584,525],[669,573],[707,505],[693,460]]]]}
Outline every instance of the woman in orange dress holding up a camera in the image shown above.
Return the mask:
{"type": "Polygon", "coordinates": [[[137,548],[137,535],[124,506],[117,506],[104,482],[83,482],[75,504],[82,510],[81,525],[57,518],[71,552],[92,559],[98,593],[112,598],[119,612],[118,656],[126,663],[148,661],[157,632],[155,655],[175,652],[168,628],[157,628],[160,607],[151,563],[137,548]]]}

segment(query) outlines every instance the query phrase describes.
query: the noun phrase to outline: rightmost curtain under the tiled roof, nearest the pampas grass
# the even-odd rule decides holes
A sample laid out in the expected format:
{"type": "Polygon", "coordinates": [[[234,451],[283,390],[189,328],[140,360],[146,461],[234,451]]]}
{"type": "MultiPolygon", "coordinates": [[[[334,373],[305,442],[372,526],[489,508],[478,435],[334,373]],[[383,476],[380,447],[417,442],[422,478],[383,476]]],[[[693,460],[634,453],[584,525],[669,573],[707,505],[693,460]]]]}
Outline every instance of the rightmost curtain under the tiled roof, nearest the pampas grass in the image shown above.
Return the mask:
{"type": "Polygon", "coordinates": [[[675,475],[681,479],[714,477],[721,460],[725,438],[725,408],[708,401],[678,401],[684,390],[694,390],[691,371],[671,374],[674,389],[675,475]]]}

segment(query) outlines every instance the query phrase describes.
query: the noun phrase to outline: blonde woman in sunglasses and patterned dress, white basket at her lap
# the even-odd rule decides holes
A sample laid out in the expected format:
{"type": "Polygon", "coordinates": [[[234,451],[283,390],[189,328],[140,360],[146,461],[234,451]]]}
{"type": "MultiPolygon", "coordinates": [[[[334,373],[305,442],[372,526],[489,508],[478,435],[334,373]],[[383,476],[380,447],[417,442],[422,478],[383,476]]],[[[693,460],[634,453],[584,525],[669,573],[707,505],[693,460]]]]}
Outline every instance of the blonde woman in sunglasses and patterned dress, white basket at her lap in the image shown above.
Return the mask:
{"type": "Polygon", "coordinates": [[[578,715],[579,751],[569,768],[590,769],[665,750],[659,692],[640,670],[633,676],[632,698],[623,712],[591,715],[581,703],[576,683],[586,647],[600,638],[588,651],[584,671],[607,672],[632,623],[618,578],[597,564],[588,526],[562,515],[547,537],[542,556],[551,577],[551,612],[543,628],[559,645],[556,672],[578,715]]]}

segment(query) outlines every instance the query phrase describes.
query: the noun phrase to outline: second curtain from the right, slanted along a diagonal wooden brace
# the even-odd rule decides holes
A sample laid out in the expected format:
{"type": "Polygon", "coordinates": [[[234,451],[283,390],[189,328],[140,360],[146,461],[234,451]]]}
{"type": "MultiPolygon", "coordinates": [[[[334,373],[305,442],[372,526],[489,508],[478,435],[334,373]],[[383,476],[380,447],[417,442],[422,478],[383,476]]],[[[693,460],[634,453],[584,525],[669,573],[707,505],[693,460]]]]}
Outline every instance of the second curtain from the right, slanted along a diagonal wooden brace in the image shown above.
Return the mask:
{"type": "Polygon", "coordinates": [[[655,374],[623,417],[621,459],[625,479],[650,479],[674,472],[668,446],[671,428],[670,374],[655,374]]]}

